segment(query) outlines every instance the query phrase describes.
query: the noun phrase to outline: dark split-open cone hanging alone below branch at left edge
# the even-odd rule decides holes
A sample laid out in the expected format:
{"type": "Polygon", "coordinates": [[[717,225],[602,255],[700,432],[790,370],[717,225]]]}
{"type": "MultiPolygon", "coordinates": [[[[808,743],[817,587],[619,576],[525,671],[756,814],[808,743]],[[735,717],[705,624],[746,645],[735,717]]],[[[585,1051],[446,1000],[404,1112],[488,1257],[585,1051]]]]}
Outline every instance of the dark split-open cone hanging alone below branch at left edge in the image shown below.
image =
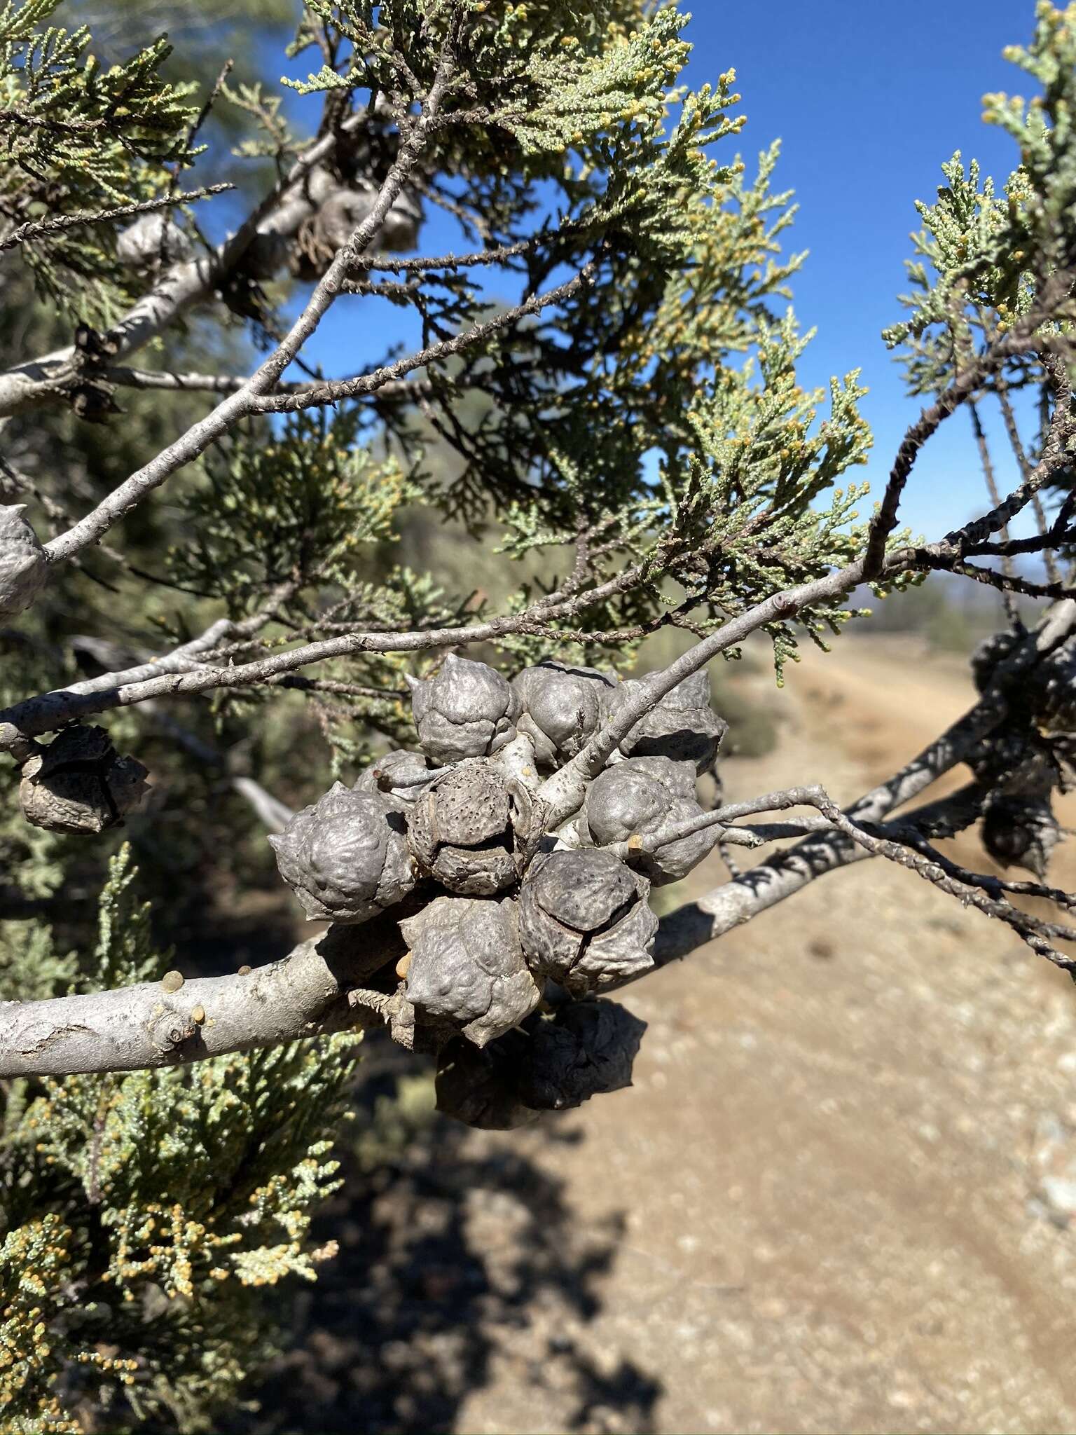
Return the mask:
{"type": "Polygon", "coordinates": [[[19,801],[27,822],[50,832],[103,832],[138,806],[149,786],[135,758],[121,758],[103,728],[66,728],[23,763],[19,801]]]}

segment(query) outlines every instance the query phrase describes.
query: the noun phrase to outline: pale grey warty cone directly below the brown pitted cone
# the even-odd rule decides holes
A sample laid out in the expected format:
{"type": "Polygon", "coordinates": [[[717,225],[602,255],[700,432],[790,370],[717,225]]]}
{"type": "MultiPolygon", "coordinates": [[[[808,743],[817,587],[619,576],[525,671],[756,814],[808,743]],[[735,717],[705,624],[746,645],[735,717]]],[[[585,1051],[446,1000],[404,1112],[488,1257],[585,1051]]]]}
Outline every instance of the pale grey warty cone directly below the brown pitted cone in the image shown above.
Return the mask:
{"type": "Polygon", "coordinates": [[[419,1020],[449,1022],[485,1046],[538,1006],[511,900],[438,897],[400,931],[410,949],[405,994],[419,1020]]]}

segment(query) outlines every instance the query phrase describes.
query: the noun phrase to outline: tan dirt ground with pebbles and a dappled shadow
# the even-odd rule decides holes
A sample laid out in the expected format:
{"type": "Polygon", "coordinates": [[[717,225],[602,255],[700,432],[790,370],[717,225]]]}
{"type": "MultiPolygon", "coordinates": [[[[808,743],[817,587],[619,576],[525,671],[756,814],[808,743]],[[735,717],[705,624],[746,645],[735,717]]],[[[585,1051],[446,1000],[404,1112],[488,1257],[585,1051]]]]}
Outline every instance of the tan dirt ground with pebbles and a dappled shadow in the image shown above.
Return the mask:
{"type": "MultiPolygon", "coordinates": [[[[955,660],[846,639],[727,791],[851,799],[971,699],[955,660]]],[[[626,1000],[633,1091],[522,1134],[417,1112],[248,1428],[1076,1429],[1067,977],[865,862],[626,1000]]]]}

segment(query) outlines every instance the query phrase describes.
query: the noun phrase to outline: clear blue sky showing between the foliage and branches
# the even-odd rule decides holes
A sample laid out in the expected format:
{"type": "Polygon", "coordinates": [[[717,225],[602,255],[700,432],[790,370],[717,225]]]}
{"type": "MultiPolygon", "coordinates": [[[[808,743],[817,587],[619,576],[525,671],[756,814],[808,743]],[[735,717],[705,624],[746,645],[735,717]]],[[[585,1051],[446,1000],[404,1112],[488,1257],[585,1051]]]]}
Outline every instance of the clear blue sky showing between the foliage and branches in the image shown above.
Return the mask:
{"type": "MultiPolygon", "coordinates": [[[[1029,40],[1033,22],[1033,0],[770,0],[765,7],[697,0],[693,9],[689,82],[699,86],[735,67],[743,96],[747,125],[739,141],[725,144],[736,144],[750,166],[775,136],[782,139],[775,188],[795,189],[799,204],[785,243],[809,250],[793,304],[802,327],[818,329],[802,379],[825,386],[831,375],[862,369],[875,448],[869,469],[852,476],[868,476],[875,494],[918,413],[881,342],[901,313],[908,235],[918,227],[914,201],[934,199],[940,165],[955,149],[977,156],[999,181],[1014,166],[1016,146],[981,122],[980,102],[987,90],[1026,92],[1026,76],[1001,50],[1029,40]]],[[[303,56],[288,72],[306,75],[308,62],[303,56]]],[[[453,228],[430,215],[423,248],[456,245],[453,228]]],[[[396,334],[405,336],[399,310],[364,301],[360,319],[341,304],[308,352],[329,372],[354,372],[356,360],[379,356],[396,334]]],[[[986,408],[984,420],[999,478],[1011,478],[1000,420],[986,408]]],[[[981,507],[983,478],[961,412],[924,451],[902,521],[938,537],[981,507]]]]}

